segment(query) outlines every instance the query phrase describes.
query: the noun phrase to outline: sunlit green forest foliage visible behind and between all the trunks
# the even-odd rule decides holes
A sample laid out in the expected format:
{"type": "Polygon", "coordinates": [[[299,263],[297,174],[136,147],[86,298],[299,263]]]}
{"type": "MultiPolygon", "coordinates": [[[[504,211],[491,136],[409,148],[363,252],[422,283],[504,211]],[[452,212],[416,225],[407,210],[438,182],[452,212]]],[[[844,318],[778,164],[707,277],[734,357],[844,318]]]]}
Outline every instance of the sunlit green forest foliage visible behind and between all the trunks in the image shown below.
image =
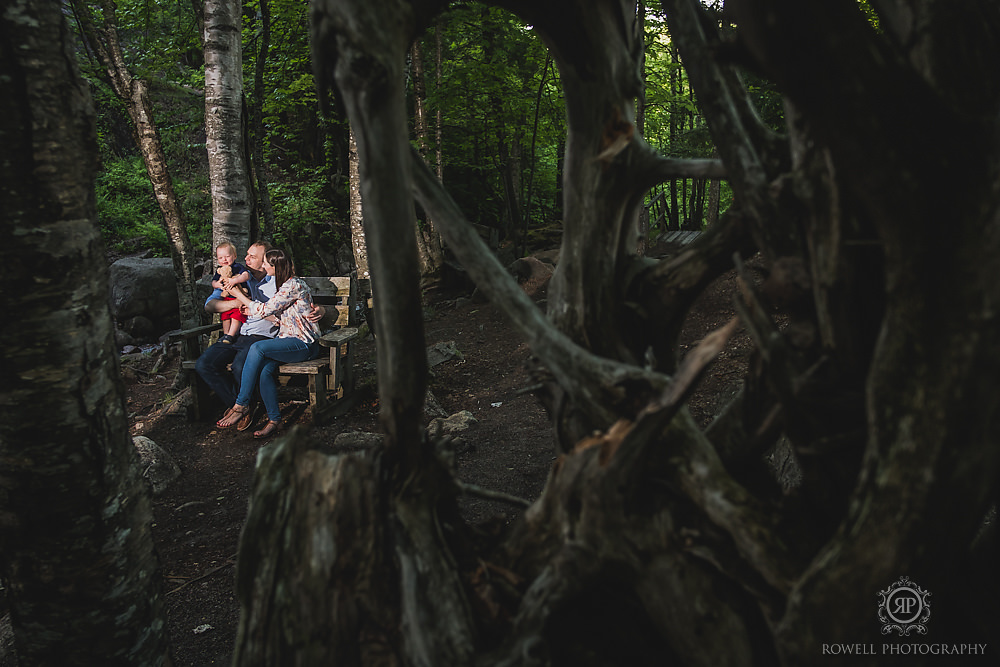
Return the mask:
{"type": "MultiPolygon", "coordinates": [[[[861,0],[860,7],[874,19],[867,2],[861,0]]],[[[255,89],[262,37],[259,8],[260,0],[243,5],[244,85],[248,97],[259,96],[262,103],[265,171],[276,216],[273,240],[297,246],[300,256],[309,254],[304,251],[307,244],[317,241],[333,250],[348,236],[343,222],[348,217],[347,123],[337,112],[326,119],[319,116],[305,29],[308,3],[301,0],[270,0],[264,82],[255,89]]],[[[204,101],[199,94],[203,56],[191,6],[121,0],[118,12],[129,66],[150,83],[188,233],[198,252],[211,254],[204,101]]],[[[454,3],[421,40],[428,118],[433,123],[440,112],[444,121],[440,148],[445,185],[466,217],[501,225],[503,156],[519,153],[522,210],[527,209],[533,228],[557,229],[566,121],[559,72],[544,44],[513,15],[464,2],[454,3]],[[442,49],[440,73],[436,29],[442,49]],[[525,204],[529,191],[531,202],[525,204]]],[[[167,254],[160,213],[145,169],[135,157],[127,115],[101,83],[100,69],[85,54],[80,58],[99,114],[105,163],[98,183],[99,215],[108,243],[122,247],[131,239],[145,238],[154,252],[167,254]]],[[[408,74],[412,100],[412,71],[408,74]]],[[[765,123],[780,131],[780,96],[750,75],[746,81],[765,123]]],[[[647,13],[646,83],[646,140],[671,157],[712,157],[714,146],[697,100],[666,23],[654,8],[647,13]]],[[[433,129],[429,140],[427,156],[433,162],[438,148],[433,129]]],[[[692,187],[689,180],[678,181],[678,200],[690,204],[692,187]]],[[[721,197],[724,209],[732,197],[725,183],[721,197]]],[[[541,238],[532,234],[536,237],[541,238]]]]}

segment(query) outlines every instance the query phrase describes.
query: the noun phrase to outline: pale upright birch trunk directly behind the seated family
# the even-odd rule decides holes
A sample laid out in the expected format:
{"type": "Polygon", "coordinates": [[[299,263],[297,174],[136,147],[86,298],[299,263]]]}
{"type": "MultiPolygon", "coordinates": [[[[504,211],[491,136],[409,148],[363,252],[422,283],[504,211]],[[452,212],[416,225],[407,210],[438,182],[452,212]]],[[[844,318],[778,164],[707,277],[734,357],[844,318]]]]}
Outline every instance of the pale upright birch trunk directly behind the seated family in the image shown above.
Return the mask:
{"type": "Polygon", "coordinates": [[[205,2],[205,144],[212,242],[250,246],[253,197],[243,142],[243,47],[238,0],[205,2]]]}

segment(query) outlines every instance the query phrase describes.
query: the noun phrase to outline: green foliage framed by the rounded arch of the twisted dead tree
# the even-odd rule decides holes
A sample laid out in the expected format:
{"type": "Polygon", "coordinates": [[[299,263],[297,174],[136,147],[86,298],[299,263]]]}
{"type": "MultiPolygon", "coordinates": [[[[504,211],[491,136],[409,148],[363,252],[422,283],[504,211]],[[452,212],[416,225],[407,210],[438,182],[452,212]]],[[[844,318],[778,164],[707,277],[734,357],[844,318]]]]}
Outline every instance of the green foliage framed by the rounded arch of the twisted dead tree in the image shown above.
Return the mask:
{"type": "Polygon", "coordinates": [[[522,204],[530,181],[532,219],[552,215],[559,208],[557,156],[566,130],[558,71],[547,64],[544,45],[513,15],[476,4],[454,6],[438,26],[440,86],[434,27],[422,38],[426,102],[430,117],[440,111],[444,118],[444,181],[452,197],[473,222],[498,226],[502,156],[520,151],[522,204]]]}

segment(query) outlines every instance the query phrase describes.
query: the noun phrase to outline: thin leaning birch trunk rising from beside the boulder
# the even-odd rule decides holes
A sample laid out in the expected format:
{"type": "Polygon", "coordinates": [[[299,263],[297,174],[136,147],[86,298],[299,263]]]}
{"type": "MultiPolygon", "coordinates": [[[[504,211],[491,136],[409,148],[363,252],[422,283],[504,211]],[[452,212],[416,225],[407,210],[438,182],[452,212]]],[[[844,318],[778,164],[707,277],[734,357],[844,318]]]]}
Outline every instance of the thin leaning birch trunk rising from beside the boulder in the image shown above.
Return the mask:
{"type": "Polygon", "coordinates": [[[136,79],[129,72],[118,39],[118,25],[115,5],[110,0],[101,0],[103,23],[98,26],[92,18],[85,2],[73,3],[75,15],[80,21],[80,32],[97,54],[104,67],[115,95],[125,103],[136,145],[146,165],[146,173],[153,185],[153,194],[163,215],[163,225],[170,239],[171,259],[177,274],[177,296],[180,303],[181,326],[191,327],[201,322],[201,304],[195,303],[194,293],[194,249],[188,237],[184,214],[174,192],[170,172],[167,171],[167,157],[163,142],[153,117],[153,105],[149,91],[142,79],[136,79]]]}

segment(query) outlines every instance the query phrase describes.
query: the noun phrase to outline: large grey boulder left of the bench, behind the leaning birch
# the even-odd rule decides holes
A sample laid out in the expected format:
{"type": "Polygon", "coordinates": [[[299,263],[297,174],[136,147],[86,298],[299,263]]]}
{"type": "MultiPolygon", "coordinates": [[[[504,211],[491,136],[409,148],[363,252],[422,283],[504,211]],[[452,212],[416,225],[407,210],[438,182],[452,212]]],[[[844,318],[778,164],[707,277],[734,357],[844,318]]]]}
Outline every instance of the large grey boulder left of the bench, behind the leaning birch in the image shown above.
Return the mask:
{"type": "Polygon", "coordinates": [[[119,327],[134,337],[155,339],[180,326],[177,278],[170,259],[126,257],[112,264],[108,273],[111,315],[119,327]],[[153,331],[147,333],[148,325],[136,318],[151,322],[153,331]]]}

